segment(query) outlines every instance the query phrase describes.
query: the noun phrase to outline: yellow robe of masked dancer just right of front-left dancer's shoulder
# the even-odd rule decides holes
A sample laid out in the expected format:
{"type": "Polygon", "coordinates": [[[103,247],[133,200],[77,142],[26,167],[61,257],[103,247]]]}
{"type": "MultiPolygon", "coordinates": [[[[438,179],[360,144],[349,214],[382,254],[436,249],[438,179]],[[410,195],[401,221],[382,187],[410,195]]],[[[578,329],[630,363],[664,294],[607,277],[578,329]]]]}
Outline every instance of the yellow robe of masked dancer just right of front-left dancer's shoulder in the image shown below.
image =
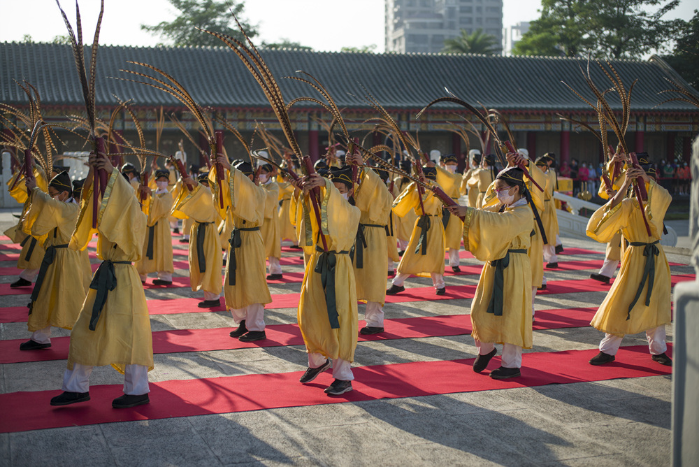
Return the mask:
{"type": "Polygon", "coordinates": [[[147,215],[143,254],[136,261],[139,274],[174,273],[173,266],[173,237],[168,221],[173,208],[173,195],[170,192],[152,194],[143,202],[143,213],[147,215]],[[150,229],[153,229],[152,259],[147,256],[150,229]]]}

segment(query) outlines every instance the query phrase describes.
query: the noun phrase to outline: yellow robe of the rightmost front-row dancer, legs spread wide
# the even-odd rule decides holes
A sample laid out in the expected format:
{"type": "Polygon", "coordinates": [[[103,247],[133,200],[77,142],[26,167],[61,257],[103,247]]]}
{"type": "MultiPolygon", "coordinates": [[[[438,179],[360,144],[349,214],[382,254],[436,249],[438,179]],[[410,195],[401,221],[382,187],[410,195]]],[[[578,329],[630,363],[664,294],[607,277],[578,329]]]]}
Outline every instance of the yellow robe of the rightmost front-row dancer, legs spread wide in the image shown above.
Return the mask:
{"type": "Polygon", "coordinates": [[[672,202],[668,190],[652,181],[647,185],[648,201],[644,211],[651,227],[651,235],[647,234],[638,202],[634,198],[626,198],[614,208],[610,203],[602,206],[590,218],[587,224],[587,235],[598,242],[609,242],[621,229],[624,238],[629,242],[624,255],[621,257],[621,268],[614,280],[610,292],[592,319],[592,326],[599,331],[624,336],[653,329],[670,322],[670,266],[665,257],[663,245],[659,242],[653,245],[657,255],[644,256],[645,246],[635,246],[633,243],[653,243],[660,240],[663,234],[663,219],[665,211],[672,202]],[[644,275],[646,259],[654,261],[655,279],[649,305],[645,301],[649,283],[646,282],[635,306],[628,314],[628,307],[633,302],[637,289],[644,275]]]}

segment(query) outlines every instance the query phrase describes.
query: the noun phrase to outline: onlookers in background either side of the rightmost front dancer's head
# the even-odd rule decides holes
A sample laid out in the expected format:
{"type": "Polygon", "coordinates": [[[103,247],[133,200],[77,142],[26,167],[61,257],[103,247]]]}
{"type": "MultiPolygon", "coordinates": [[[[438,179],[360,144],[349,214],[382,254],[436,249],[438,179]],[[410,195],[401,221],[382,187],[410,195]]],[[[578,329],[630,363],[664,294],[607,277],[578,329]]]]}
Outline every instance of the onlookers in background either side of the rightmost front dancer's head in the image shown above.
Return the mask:
{"type": "MultiPolygon", "coordinates": [[[[572,196],[588,191],[592,196],[597,194],[600,187],[603,164],[595,166],[591,163],[579,163],[571,159],[570,164],[561,168],[561,175],[572,178],[572,196]]],[[[689,164],[680,159],[675,161],[661,160],[656,164],[657,181],[671,194],[689,194],[691,172],[689,164]]]]}

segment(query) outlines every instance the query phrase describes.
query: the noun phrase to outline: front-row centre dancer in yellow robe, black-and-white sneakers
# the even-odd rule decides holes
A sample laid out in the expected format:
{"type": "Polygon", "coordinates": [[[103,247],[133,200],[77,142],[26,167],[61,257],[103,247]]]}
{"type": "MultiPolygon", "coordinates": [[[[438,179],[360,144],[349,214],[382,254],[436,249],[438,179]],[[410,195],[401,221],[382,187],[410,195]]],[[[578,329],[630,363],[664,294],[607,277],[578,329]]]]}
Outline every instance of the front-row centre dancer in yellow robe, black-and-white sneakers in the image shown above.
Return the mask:
{"type": "Polygon", "coordinates": [[[303,211],[311,224],[315,252],[306,264],[298,301],[298,327],[308,352],[308,369],[302,383],[333,366],[333,384],[325,389],[332,396],[352,391],[352,361],[357,341],[356,286],[349,249],[354,244],[361,215],[348,196],[317,174],[303,182],[303,211]],[[321,224],[311,206],[310,190],[320,191],[321,224]],[[343,196],[345,195],[345,196],[343,196]],[[322,236],[322,237],[321,237],[322,236]],[[323,239],[328,250],[324,250],[323,239]]]}

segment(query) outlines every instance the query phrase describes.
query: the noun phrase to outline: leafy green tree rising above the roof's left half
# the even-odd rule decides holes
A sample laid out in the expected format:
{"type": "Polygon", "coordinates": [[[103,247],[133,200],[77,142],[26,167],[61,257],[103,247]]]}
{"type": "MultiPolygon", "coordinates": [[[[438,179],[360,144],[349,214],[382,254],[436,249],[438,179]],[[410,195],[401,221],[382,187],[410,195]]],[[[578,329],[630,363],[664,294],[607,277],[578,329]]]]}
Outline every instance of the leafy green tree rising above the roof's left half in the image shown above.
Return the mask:
{"type": "Polygon", "coordinates": [[[210,34],[196,29],[208,29],[226,36],[243,40],[243,34],[233,23],[231,10],[238,17],[240,25],[250,38],[257,36],[257,26],[253,26],[247,20],[240,17],[243,13],[244,3],[221,0],[168,0],[171,5],[180,11],[178,17],[171,22],[163,21],[154,26],[141,24],[140,29],[153,35],[159,35],[170,45],[211,45],[220,47],[224,45],[219,39],[210,34]]]}

